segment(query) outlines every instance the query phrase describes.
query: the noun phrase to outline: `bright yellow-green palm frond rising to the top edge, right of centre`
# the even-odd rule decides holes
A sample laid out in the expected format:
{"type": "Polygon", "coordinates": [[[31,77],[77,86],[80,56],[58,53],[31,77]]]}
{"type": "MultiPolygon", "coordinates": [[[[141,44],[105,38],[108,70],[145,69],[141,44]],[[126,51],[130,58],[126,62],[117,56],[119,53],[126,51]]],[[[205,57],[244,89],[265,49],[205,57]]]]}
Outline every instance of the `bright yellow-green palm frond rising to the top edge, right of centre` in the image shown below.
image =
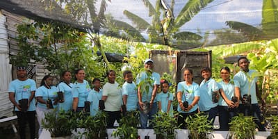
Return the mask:
{"type": "Polygon", "coordinates": [[[190,21],[202,8],[212,1],[213,0],[189,0],[175,19],[175,26],[179,28],[183,24],[186,24],[186,22],[190,21]]]}

